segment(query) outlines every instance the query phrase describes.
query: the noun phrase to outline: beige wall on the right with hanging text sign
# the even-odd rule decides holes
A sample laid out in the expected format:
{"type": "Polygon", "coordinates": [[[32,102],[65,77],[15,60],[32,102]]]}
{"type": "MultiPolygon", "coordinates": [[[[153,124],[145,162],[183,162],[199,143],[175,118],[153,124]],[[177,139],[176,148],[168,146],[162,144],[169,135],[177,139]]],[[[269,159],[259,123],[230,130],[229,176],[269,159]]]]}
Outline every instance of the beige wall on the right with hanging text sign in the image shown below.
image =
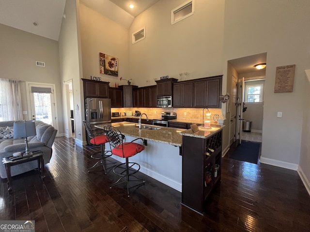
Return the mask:
{"type": "Polygon", "coordinates": [[[291,168],[299,164],[304,70],[310,65],[305,39],[310,37],[310,2],[298,3],[225,1],[224,62],[267,52],[261,162],[291,168]],[[263,26],[256,27],[257,23],[263,26]],[[296,65],[293,93],[274,93],[276,67],[290,64],[296,65]],[[283,117],[278,118],[277,112],[283,117]]]}

